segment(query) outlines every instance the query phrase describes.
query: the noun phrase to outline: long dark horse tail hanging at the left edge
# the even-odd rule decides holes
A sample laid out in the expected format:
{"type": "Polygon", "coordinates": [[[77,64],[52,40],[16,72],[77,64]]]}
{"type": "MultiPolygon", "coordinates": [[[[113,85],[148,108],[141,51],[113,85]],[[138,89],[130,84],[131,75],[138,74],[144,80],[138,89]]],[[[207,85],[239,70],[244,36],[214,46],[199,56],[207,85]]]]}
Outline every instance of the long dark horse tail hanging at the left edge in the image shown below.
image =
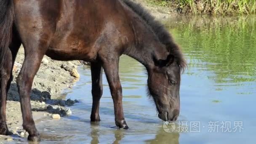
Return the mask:
{"type": "Polygon", "coordinates": [[[14,23],[13,0],[0,0],[0,69],[12,40],[14,23]]]}

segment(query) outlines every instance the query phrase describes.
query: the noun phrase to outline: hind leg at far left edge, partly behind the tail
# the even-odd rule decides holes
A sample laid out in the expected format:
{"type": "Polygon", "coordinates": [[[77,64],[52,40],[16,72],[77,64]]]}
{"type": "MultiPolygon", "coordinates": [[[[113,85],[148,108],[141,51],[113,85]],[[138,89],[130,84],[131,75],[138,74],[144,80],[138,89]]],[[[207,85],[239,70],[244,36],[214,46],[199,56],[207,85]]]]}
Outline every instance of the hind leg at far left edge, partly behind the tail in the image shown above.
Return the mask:
{"type": "Polygon", "coordinates": [[[13,64],[20,45],[21,42],[19,42],[19,40],[13,39],[13,43],[9,46],[10,48],[7,50],[5,55],[3,67],[0,70],[0,134],[2,135],[11,134],[6,125],[6,100],[11,81],[13,80],[13,64]]]}

